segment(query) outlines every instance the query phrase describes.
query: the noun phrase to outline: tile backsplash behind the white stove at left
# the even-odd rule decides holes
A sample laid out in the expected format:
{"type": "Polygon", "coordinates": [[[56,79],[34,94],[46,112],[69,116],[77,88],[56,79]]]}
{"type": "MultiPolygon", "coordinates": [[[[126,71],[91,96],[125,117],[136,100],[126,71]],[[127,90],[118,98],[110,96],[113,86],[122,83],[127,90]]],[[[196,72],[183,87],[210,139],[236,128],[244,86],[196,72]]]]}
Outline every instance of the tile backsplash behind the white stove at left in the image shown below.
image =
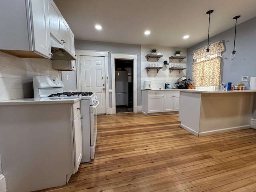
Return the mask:
{"type": "Polygon", "coordinates": [[[50,59],[18,58],[0,52],[0,101],[33,97],[33,76],[58,77],[50,59]]]}

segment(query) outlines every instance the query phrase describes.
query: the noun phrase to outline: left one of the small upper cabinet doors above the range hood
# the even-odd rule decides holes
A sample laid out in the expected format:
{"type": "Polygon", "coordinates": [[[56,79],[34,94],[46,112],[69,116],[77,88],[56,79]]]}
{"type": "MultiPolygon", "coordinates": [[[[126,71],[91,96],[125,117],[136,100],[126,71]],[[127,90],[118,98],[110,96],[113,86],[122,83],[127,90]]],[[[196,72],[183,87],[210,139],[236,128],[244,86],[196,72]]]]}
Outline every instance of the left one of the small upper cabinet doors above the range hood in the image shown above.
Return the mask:
{"type": "Polygon", "coordinates": [[[50,12],[50,34],[60,43],[61,42],[61,36],[60,36],[60,30],[61,30],[61,18],[62,15],[60,13],[60,10],[56,6],[53,0],[50,0],[51,4],[49,5],[49,12],[50,12]]]}

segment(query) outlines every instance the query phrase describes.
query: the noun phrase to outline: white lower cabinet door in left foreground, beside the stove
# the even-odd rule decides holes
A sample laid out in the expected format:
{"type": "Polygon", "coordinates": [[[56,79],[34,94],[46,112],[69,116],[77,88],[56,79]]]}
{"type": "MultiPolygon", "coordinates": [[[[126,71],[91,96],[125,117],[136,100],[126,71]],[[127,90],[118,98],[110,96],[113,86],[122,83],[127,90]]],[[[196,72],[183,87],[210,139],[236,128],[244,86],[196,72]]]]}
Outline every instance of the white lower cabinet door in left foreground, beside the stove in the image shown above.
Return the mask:
{"type": "Polygon", "coordinates": [[[74,162],[75,172],[77,172],[82,159],[82,126],[81,114],[73,120],[73,142],[74,142],[74,162]]]}

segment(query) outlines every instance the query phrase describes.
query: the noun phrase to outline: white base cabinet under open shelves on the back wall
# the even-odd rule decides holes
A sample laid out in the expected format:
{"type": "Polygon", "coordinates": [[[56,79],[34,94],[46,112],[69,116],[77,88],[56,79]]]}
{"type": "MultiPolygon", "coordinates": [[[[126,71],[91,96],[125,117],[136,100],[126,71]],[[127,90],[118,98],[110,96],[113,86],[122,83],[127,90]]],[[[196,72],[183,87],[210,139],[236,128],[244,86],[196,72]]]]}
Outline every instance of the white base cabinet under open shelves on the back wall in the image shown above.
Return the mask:
{"type": "Polygon", "coordinates": [[[142,90],[142,113],[144,115],[177,114],[178,90],[142,90]]]}

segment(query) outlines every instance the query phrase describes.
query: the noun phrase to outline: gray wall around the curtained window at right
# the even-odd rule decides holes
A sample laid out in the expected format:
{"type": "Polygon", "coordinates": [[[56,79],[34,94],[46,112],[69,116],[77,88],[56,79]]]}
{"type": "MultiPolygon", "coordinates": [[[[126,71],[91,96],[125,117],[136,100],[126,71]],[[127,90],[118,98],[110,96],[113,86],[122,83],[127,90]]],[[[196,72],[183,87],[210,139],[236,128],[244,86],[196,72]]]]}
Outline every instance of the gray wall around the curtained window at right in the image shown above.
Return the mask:
{"type": "MultiPolygon", "coordinates": [[[[230,22],[235,25],[235,20],[232,18],[230,18],[230,22]]],[[[231,61],[230,54],[234,48],[234,32],[234,27],[226,30],[210,38],[209,44],[224,40],[226,51],[222,52],[224,58],[221,59],[220,64],[221,81],[224,83],[233,82],[236,85],[241,81],[242,76],[249,76],[249,82],[250,77],[256,76],[256,17],[236,26],[236,59],[231,61]]],[[[207,46],[207,40],[188,48],[186,74],[188,78],[192,78],[193,55],[190,53],[204,46],[207,46]]],[[[246,89],[249,89],[248,82],[243,83],[246,89]]],[[[254,96],[252,118],[256,118],[256,96],[254,96]]]]}

